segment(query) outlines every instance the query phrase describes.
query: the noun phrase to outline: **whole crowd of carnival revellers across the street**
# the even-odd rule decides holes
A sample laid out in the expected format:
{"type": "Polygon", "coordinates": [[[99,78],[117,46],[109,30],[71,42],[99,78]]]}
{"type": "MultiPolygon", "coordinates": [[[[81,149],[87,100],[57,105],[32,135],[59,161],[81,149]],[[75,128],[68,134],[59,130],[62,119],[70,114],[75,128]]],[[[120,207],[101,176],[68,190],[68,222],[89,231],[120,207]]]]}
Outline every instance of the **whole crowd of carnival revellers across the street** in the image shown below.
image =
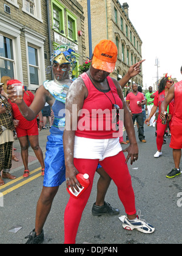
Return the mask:
{"type": "MultiPolygon", "coordinates": [[[[29,137],[30,145],[42,166],[42,175],[44,175],[43,187],[36,207],[35,228],[26,237],[27,244],[38,244],[44,241],[43,227],[59,185],[66,181],[67,189],[72,190],[73,193],[79,192],[82,186],[76,175],[86,173],[86,169],[87,174],[89,174],[90,185],[77,199],[70,196],[64,213],[65,244],[74,244],[76,241],[79,222],[89,199],[96,171],[99,173],[99,179],[92,214],[100,216],[120,213],[118,209],[104,201],[110,181],[113,180],[126,211],[126,215],[122,219],[124,229],[136,229],[143,233],[155,231],[155,227],[136,214],[135,193],[127,167],[129,159],[131,165],[138,160],[138,144],[133,124],[136,121],[138,139],[141,143],[146,143],[144,123],[155,126],[153,116],[155,116],[158,108],[158,151],[154,157],[160,157],[164,132],[167,127],[167,122],[163,124],[164,112],[167,112],[167,121],[171,131],[170,147],[173,148],[175,168],[166,177],[179,175],[181,173],[180,152],[182,145],[180,140],[177,141],[175,135],[177,134],[178,138],[181,138],[181,113],[178,111],[180,109],[180,96],[177,102],[174,101],[174,98],[176,99],[177,93],[180,94],[182,84],[179,82],[173,85],[174,80],[166,74],[166,77],[161,79],[156,93],[153,93],[152,87],[149,87],[149,93],[145,95],[138,85],[132,84],[132,91],[128,91],[124,99],[122,88],[132,77],[141,72],[140,66],[144,60],[130,66],[126,75],[118,82],[109,76],[115,68],[117,55],[117,48],[112,41],[100,41],[93,51],[89,71],[72,81],[70,73],[72,73],[76,63],[74,51],[69,46],[58,46],[51,57],[54,79],[45,81],[38,88],[35,96],[32,96],[30,91],[24,91],[23,98],[16,99],[13,84],[17,81],[9,80],[7,82],[9,100],[3,98],[2,102],[7,104],[7,109],[4,110],[1,103],[0,117],[2,116],[7,120],[8,116],[10,119],[8,121],[9,126],[5,126],[2,133],[8,131],[11,134],[8,135],[10,141],[5,141],[5,143],[3,141],[3,147],[9,149],[10,156],[8,159],[12,160],[12,131],[16,129],[21,151],[25,151],[22,153],[25,166],[24,176],[28,177],[27,141],[25,138],[29,137]],[[38,144],[38,126],[36,125],[37,129],[27,129],[27,127],[21,127],[19,124],[21,120],[23,120],[22,123],[35,123],[36,117],[40,114],[41,125],[39,129],[41,130],[42,127],[45,127],[41,110],[46,106],[52,109],[53,120],[50,121],[50,135],[47,137],[45,160],[43,160],[38,144]],[[124,112],[123,119],[121,119],[121,110],[124,112]],[[146,110],[149,114],[147,119],[146,110]],[[103,115],[103,113],[107,113],[107,115],[103,115]],[[19,120],[18,123],[17,119],[19,120]],[[129,143],[124,150],[121,148],[123,134],[120,134],[120,130],[123,131],[123,125],[127,133],[126,143],[129,143]],[[126,157],[123,152],[127,152],[126,157]]],[[[50,109],[49,113],[47,110],[44,114],[45,117],[50,116],[50,109]]],[[[0,132],[1,128],[2,123],[0,132]]],[[[16,179],[9,173],[11,161],[7,163],[7,160],[4,160],[4,163],[2,164],[2,178],[16,179]]],[[[0,185],[4,185],[1,178],[0,185]]]]}

